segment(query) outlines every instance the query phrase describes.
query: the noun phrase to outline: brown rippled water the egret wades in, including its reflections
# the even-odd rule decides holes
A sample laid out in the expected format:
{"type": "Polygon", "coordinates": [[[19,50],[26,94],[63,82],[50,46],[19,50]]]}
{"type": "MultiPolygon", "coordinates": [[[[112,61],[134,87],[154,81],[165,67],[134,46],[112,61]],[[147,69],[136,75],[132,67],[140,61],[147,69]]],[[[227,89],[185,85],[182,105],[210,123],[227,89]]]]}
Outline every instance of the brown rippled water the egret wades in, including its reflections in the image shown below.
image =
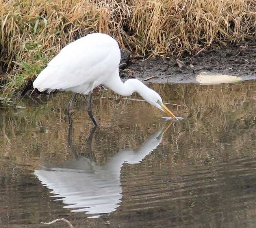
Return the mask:
{"type": "Polygon", "coordinates": [[[0,108],[0,227],[254,227],[256,82],[152,88],[182,121],[111,91],[96,130],[83,96],[72,131],[67,93],[0,108]]]}

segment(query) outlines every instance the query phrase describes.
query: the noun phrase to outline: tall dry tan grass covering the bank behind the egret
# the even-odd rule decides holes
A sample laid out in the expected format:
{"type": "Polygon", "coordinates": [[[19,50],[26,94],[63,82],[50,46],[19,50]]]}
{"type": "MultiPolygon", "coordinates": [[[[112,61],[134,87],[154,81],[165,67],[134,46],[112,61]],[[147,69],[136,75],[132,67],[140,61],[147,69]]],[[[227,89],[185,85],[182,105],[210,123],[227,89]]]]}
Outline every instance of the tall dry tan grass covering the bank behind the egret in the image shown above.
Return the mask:
{"type": "Polygon", "coordinates": [[[195,54],[256,35],[252,0],[0,0],[0,70],[20,91],[59,50],[97,31],[135,55],[195,54]]]}

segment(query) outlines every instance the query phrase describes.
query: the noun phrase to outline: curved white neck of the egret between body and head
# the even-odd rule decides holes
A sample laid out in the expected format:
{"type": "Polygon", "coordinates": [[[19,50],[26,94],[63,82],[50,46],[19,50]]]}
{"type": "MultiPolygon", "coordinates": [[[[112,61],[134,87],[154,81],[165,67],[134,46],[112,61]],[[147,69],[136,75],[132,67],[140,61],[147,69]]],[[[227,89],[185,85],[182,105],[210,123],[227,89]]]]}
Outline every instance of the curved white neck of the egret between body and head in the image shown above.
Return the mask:
{"type": "Polygon", "coordinates": [[[132,93],[137,92],[139,95],[144,97],[145,91],[148,89],[151,90],[137,79],[128,79],[123,83],[119,77],[118,69],[106,82],[104,82],[104,85],[122,96],[130,96],[132,93]]]}

